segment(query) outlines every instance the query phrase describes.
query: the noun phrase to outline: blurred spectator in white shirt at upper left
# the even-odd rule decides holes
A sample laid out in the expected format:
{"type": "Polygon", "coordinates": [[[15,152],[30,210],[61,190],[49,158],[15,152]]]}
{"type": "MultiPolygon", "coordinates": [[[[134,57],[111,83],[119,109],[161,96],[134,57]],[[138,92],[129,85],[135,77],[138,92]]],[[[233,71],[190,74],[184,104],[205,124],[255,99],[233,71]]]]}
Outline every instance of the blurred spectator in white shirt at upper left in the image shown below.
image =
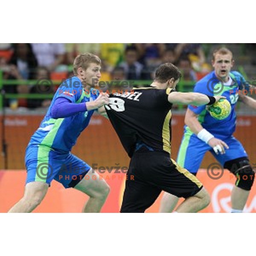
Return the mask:
{"type": "Polygon", "coordinates": [[[64,44],[32,44],[33,52],[40,67],[54,71],[64,61],[64,44]]]}

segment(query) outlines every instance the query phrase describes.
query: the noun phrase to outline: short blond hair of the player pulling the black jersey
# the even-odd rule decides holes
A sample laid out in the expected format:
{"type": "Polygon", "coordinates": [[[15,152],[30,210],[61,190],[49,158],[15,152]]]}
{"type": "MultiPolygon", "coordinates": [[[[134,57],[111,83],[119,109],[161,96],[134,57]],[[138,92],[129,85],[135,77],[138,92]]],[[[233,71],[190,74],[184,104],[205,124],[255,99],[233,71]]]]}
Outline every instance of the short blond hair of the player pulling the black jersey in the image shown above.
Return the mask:
{"type": "Polygon", "coordinates": [[[74,75],[75,76],[78,75],[77,70],[79,69],[79,67],[81,67],[84,70],[87,70],[87,68],[89,67],[89,65],[91,63],[95,63],[95,64],[100,65],[101,60],[98,56],[96,56],[92,53],[88,53],[88,52],[76,56],[75,61],[74,61],[74,65],[73,65],[74,75]]]}

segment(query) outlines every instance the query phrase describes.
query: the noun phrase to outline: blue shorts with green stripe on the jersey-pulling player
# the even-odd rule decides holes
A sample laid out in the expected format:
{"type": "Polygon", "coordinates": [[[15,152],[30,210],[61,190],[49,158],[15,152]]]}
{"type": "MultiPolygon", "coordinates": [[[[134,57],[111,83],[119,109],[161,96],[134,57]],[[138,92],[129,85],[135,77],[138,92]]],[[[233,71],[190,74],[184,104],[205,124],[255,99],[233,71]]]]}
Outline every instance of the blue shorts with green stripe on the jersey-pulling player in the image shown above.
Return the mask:
{"type": "Polygon", "coordinates": [[[55,151],[43,145],[30,145],[26,148],[26,184],[41,181],[50,185],[52,180],[65,188],[76,186],[90,171],[91,167],[70,153],[55,151]]]}

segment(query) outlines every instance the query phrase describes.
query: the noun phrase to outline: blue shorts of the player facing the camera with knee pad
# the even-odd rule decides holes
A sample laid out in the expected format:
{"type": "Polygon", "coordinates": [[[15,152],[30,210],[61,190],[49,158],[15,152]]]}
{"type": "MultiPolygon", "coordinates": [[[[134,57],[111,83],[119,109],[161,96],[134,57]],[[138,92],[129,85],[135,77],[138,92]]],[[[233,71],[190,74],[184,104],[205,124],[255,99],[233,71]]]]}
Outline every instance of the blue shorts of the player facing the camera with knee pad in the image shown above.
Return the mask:
{"type": "Polygon", "coordinates": [[[222,166],[227,161],[248,157],[243,145],[235,137],[221,140],[229,146],[229,149],[225,148],[225,154],[216,154],[211,146],[198,139],[195,134],[185,133],[177,157],[178,165],[196,174],[207,151],[210,151],[222,166]]]}

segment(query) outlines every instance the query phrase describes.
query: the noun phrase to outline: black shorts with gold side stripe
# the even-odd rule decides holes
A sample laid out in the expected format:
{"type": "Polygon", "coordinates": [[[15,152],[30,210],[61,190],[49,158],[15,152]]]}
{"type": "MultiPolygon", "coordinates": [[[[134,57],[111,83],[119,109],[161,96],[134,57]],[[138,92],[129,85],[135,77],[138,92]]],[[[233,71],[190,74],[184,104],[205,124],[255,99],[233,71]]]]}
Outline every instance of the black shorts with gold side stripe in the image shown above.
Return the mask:
{"type": "Polygon", "coordinates": [[[120,212],[145,212],[166,191],[188,198],[203,188],[188,170],[164,152],[135,152],[131,158],[120,212]]]}

